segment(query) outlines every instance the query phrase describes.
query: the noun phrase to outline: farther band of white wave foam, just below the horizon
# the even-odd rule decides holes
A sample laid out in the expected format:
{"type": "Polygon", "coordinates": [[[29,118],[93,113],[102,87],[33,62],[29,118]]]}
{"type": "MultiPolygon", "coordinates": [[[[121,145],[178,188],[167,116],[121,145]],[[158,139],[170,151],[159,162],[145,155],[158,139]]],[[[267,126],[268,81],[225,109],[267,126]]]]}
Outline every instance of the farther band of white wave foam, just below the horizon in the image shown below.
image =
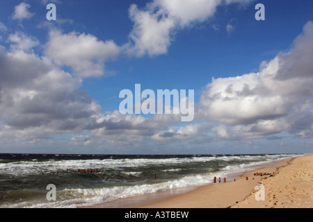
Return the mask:
{"type": "MultiPolygon", "coordinates": [[[[282,160],[287,157],[298,155],[237,155],[237,156],[216,156],[216,157],[186,157],[186,158],[164,158],[164,159],[106,159],[106,160],[61,160],[48,162],[9,162],[0,164],[0,173],[6,173],[13,176],[39,175],[42,172],[66,171],[66,169],[119,169],[149,166],[176,166],[178,164],[188,164],[192,162],[210,162],[223,160],[231,162],[233,160],[252,161],[255,164],[271,162],[273,160],[282,160]]],[[[167,169],[165,169],[167,170],[167,169]]],[[[168,169],[168,171],[177,169],[168,169]]],[[[179,171],[179,170],[177,170],[179,171]]]]}

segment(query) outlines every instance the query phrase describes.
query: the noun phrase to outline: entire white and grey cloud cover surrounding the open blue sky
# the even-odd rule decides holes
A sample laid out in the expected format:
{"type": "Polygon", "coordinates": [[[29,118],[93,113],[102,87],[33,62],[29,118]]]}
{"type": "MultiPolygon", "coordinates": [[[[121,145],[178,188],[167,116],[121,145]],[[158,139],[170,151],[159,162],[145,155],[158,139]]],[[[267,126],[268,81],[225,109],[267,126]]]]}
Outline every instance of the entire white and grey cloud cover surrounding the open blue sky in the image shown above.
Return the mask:
{"type": "MultiPolygon", "coordinates": [[[[214,17],[219,6],[250,0],[154,0],[129,8],[134,26],[122,46],[86,33],[49,30],[47,42],[16,31],[0,46],[0,138],[51,139],[74,134],[70,144],[140,146],[141,143],[207,143],[222,139],[313,137],[313,22],[307,22],[288,53],[262,62],[259,71],[212,79],[195,104],[195,121],[177,126],[179,115],[123,115],[102,107],[81,90],[84,78],[106,76],[105,63],[167,53],[175,34],[214,17]],[[196,3],[195,3],[196,2],[196,3]],[[177,7],[179,6],[179,7],[177,7]],[[35,53],[42,45],[42,55],[35,53]],[[72,72],[65,71],[70,67],[72,72]]],[[[26,3],[14,19],[33,16],[26,3]]],[[[229,27],[229,31],[232,31],[229,27]]],[[[0,22],[0,31],[7,32],[0,22]]]]}

